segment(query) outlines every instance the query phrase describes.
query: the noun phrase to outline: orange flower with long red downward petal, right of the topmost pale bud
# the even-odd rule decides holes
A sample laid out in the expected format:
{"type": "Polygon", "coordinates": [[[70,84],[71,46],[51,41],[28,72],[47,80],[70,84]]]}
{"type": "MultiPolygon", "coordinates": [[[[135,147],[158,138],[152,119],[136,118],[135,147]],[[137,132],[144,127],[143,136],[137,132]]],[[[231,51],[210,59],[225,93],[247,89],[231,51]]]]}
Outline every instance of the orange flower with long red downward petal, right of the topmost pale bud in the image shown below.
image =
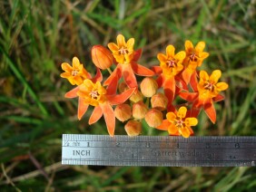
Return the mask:
{"type": "Polygon", "coordinates": [[[175,54],[173,45],[168,45],[166,47],[166,54],[157,54],[157,58],[160,61],[160,67],[156,66],[153,70],[160,74],[157,82],[159,87],[163,87],[164,93],[168,98],[169,106],[172,104],[176,91],[175,78],[182,72],[182,62],[185,56],[186,53],[183,51],[175,54]]]}

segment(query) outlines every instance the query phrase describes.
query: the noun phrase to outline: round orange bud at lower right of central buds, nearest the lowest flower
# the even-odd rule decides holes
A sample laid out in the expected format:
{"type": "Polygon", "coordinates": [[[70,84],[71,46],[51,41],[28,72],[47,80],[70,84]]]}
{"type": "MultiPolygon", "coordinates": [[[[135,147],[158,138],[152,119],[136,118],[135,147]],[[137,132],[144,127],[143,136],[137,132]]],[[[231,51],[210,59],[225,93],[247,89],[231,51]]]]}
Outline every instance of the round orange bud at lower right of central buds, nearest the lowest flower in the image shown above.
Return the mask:
{"type": "Polygon", "coordinates": [[[162,124],[162,112],[156,109],[148,110],[145,115],[145,121],[150,127],[158,127],[162,124]]]}

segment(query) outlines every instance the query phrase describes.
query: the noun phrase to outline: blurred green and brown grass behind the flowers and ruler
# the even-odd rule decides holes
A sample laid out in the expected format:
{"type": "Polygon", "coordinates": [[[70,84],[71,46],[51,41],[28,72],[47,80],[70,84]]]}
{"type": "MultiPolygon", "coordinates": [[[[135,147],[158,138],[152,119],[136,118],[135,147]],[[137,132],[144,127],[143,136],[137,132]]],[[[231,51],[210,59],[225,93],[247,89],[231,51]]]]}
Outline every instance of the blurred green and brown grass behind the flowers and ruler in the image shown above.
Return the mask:
{"type": "Polygon", "coordinates": [[[0,191],[253,191],[255,168],[62,166],[63,133],[107,132],[102,120],[88,126],[90,111],[77,120],[60,65],[76,55],[94,73],[92,46],[117,34],[135,38],[148,67],[170,43],[205,41],[201,69],[221,69],[230,88],[216,124],[202,113],[196,134],[256,136],[255,13],[254,0],[1,1],[0,191]]]}

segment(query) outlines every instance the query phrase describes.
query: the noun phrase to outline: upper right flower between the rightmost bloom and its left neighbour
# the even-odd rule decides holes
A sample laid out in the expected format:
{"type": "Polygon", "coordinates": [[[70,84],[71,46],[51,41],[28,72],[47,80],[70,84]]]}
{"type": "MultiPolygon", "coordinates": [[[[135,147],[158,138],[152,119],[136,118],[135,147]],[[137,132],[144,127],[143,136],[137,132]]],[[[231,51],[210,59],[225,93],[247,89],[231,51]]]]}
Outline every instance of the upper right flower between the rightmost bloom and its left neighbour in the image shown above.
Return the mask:
{"type": "Polygon", "coordinates": [[[188,84],[192,76],[195,75],[196,68],[200,67],[203,60],[209,56],[209,53],[203,52],[204,47],[204,42],[197,43],[195,47],[191,41],[187,40],[185,42],[186,57],[183,61],[184,71],[182,72],[182,79],[186,84],[188,84]]]}

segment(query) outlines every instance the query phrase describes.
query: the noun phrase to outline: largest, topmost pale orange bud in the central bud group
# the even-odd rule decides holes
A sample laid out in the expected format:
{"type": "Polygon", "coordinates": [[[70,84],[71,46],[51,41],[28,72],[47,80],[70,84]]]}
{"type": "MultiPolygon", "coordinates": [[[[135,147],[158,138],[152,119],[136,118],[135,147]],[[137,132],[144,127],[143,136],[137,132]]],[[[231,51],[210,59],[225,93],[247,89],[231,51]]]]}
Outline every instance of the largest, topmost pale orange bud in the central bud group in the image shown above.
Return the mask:
{"type": "Polygon", "coordinates": [[[158,90],[157,82],[151,77],[145,77],[141,82],[141,91],[145,97],[152,97],[158,90]]]}

